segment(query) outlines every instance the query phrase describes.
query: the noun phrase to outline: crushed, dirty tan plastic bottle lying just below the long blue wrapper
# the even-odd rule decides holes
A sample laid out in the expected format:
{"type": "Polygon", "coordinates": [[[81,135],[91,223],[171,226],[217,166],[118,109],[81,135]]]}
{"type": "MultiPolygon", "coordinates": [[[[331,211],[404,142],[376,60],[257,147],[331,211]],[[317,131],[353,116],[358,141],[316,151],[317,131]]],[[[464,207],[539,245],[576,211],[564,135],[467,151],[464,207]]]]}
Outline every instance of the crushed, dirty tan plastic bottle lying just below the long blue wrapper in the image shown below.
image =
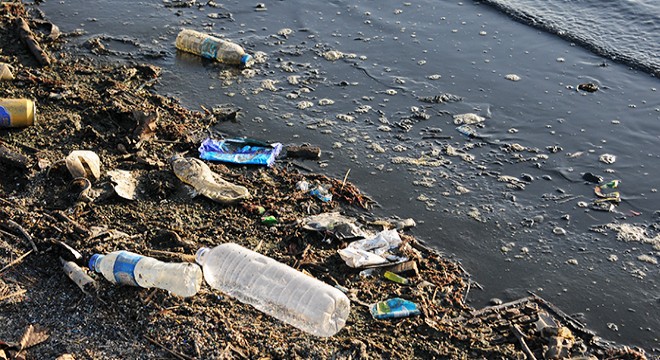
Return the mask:
{"type": "Polygon", "coordinates": [[[175,155],[170,162],[176,177],[194,188],[193,196],[203,195],[220,203],[250,198],[246,187],[223,179],[199,159],[175,155]]]}

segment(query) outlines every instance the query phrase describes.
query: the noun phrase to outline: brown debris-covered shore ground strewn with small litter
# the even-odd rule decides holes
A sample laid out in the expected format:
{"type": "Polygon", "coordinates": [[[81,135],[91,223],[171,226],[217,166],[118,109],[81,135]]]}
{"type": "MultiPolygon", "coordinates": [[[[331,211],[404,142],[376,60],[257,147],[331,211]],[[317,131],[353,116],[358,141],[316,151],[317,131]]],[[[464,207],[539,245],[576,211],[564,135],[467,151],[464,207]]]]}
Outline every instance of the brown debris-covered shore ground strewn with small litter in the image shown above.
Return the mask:
{"type": "Polygon", "coordinates": [[[376,219],[346,179],[273,162],[281,144],[207,140],[216,115],[151,91],[158,68],[71,58],[21,3],[0,6],[13,77],[0,94],[38,108],[34,125],[0,129],[0,359],[645,359],[536,296],[472,309],[475,283],[406,234],[414,221],[376,219]],[[229,242],[339,289],[346,325],[319,338],[208,286],[184,298],[87,268],[95,253],[191,262],[229,242]]]}

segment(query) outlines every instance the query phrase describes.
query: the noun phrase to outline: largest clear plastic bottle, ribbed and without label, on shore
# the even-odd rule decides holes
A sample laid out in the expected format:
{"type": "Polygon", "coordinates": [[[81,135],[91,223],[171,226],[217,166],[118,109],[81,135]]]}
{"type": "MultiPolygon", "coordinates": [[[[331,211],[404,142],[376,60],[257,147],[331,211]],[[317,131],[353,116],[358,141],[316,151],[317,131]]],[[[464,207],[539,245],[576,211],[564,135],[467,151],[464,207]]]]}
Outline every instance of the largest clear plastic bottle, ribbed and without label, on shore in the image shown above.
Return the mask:
{"type": "Polygon", "coordinates": [[[228,243],[197,251],[212,288],[316,336],[346,324],[351,304],[340,290],[269,257],[228,243]]]}

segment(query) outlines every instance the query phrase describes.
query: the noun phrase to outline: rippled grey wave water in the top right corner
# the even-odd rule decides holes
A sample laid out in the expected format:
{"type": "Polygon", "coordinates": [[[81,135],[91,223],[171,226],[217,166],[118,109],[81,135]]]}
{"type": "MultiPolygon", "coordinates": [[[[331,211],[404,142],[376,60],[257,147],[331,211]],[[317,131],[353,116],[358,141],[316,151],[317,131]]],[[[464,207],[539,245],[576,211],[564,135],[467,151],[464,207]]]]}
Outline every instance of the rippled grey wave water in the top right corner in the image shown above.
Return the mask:
{"type": "Polygon", "coordinates": [[[486,0],[610,59],[660,75],[660,1],[486,0]]]}

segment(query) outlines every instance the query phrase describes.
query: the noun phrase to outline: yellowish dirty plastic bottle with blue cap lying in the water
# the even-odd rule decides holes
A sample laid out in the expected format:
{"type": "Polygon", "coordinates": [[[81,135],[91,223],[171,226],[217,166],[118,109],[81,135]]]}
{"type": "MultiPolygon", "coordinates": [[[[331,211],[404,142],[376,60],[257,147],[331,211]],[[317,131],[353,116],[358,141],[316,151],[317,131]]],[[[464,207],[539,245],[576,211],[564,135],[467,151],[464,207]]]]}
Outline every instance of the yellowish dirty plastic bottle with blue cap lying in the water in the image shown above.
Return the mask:
{"type": "Polygon", "coordinates": [[[181,30],[175,45],[179,50],[225,64],[250,67],[254,63],[252,56],[246,54],[239,45],[195,30],[181,30]]]}

